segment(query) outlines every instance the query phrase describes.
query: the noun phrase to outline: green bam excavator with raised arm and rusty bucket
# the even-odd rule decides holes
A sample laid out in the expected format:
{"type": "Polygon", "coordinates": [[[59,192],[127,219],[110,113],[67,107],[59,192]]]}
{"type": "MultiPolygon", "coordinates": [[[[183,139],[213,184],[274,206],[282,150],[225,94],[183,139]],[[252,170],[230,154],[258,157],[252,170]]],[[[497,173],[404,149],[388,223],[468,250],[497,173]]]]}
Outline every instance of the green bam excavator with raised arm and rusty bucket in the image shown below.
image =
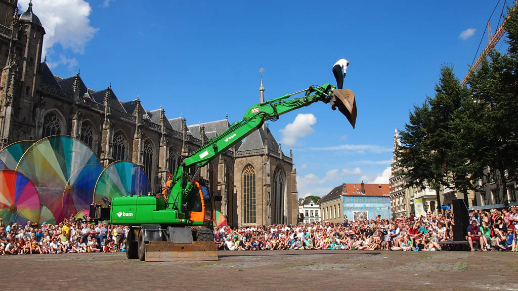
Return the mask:
{"type": "Polygon", "coordinates": [[[326,83],[252,105],[241,121],[234,122],[225,132],[213,137],[190,155],[180,157],[164,194],[137,196],[131,193],[115,197],[111,207],[99,207],[94,219],[130,226],[126,255],[141,261],[210,261],[217,260],[213,242],[212,222],[214,195],[207,182],[198,179],[201,167],[231,148],[265,121],[275,121],[280,115],[322,101],[338,109],[354,128],[356,102],[349,89],[336,89],[326,83]],[[291,98],[304,93],[303,97],[291,98]],[[109,213],[109,217],[107,216],[109,213]]]}

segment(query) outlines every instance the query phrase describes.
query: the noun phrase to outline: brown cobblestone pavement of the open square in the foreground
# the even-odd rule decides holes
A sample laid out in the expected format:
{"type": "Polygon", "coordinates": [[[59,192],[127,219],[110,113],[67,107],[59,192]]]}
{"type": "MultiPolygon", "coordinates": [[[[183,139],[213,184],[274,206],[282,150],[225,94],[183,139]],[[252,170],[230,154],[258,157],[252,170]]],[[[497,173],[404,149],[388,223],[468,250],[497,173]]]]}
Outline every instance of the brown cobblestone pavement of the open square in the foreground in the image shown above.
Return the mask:
{"type": "Polygon", "coordinates": [[[218,252],[145,263],[124,253],[0,257],[0,290],[518,290],[518,254],[218,252]]]}

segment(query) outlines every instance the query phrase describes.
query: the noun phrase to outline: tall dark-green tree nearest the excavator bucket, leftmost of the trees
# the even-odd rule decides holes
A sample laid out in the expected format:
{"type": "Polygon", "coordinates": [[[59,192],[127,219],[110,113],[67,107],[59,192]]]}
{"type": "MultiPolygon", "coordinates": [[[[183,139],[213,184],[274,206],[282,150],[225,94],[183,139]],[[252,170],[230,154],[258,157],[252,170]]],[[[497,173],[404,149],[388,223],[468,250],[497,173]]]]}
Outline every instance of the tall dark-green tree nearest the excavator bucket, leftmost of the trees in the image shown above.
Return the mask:
{"type": "Polygon", "coordinates": [[[435,190],[437,208],[441,206],[442,187],[461,188],[467,200],[464,183],[452,183],[450,164],[462,163],[463,157],[455,154],[456,135],[452,131],[455,113],[470,95],[455,78],[453,67],[442,66],[440,79],[435,86],[434,97],[427,97],[422,106],[414,106],[405,131],[400,134],[401,147],[398,151],[400,162],[410,186],[435,190]]]}

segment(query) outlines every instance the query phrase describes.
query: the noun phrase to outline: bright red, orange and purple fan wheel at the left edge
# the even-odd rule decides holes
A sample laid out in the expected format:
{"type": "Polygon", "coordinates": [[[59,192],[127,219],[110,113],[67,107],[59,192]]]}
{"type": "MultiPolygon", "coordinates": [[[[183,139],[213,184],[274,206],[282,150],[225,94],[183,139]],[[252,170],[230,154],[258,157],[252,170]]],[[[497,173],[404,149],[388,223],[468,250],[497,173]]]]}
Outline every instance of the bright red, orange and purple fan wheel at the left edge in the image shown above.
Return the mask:
{"type": "Polygon", "coordinates": [[[39,221],[39,213],[39,195],[31,180],[14,170],[0,171],[0,218],[25,225],[39,221]]]}

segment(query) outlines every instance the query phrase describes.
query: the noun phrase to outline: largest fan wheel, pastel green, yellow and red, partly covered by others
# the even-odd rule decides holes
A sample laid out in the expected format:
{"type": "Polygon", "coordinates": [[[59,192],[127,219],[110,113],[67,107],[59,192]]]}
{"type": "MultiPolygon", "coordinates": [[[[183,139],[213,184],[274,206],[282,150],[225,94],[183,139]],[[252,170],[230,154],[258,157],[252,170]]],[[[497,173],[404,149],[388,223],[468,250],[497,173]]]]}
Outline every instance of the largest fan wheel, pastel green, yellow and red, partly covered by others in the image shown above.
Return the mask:
{"type": "Polygon", "coordinates": [[[41,204],[50,209],[56,222],[62,222],[63,191],[70,177],[90,164],[100,162],[88,145],[72,136],[52,135],[28,148],[16,170],[33,181],[41,204]]]}

